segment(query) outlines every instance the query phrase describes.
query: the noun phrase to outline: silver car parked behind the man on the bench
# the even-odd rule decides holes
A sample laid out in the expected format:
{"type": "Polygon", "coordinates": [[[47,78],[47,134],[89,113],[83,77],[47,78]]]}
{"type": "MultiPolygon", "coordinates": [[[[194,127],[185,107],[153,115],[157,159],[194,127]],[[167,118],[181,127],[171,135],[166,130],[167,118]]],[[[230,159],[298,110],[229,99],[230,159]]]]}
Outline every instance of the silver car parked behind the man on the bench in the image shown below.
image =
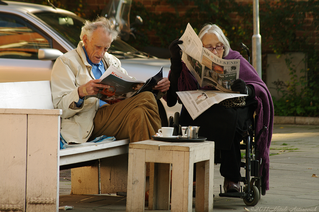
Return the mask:
{"type": "MultiPolygon", "coordinates": [[[[0,0],[0,82],[50,80],[55,59],[80,40],[85,20],[55,6],[0,0]]],[[[109,53],[137,80],[147,80],[163,66],[167,77],[170,61],[152,57],[122,40],[112,43],[109,53]]],[[[180,105],[168,108],[159,103],[162,125],[179,112],[180,105]]]]}

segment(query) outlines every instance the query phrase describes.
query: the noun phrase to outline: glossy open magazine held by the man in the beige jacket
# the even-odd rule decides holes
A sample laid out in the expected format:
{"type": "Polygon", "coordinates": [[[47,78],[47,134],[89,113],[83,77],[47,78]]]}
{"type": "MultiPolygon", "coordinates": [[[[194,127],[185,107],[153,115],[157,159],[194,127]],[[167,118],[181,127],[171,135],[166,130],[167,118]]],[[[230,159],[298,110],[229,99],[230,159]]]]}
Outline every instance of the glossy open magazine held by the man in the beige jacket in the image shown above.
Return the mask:
{"type": "Polygon", "coordinates": [[[148,80],[137,81],[110,65],[100,79],[100,83],[109,85],[110,88],[100,89],[102,94],[89,95],[87,98],[96,97],[109,104],[114,104],[144,91],[152,92],[156,98],[158,90],[153,90],[152,87],[163,79],[163,67],[155,76],[148,80]]]}

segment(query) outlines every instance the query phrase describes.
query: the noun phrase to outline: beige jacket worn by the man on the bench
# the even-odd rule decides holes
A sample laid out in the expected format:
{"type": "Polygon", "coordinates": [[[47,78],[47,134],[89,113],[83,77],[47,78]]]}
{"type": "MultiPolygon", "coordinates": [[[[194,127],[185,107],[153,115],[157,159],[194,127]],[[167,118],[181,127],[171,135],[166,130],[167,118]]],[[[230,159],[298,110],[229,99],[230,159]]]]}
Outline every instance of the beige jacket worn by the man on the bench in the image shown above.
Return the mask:
{"type": "MultiPolygon", "coordinates": [[[[79,108],[75,105],[79,101],[78,87],[95,79],[82,47],[80,41],[76,49],[58,57],[51,74],[53,104],[56,109],[63,110],[60,133],[67,143],[84,143],[90,138],[93,119],[99,108],[97,98],[85,98],[79,108]]],[[[103,58],[107,66],[113,65],[128,75],[115,56],[106,52],[103,58]]]]}

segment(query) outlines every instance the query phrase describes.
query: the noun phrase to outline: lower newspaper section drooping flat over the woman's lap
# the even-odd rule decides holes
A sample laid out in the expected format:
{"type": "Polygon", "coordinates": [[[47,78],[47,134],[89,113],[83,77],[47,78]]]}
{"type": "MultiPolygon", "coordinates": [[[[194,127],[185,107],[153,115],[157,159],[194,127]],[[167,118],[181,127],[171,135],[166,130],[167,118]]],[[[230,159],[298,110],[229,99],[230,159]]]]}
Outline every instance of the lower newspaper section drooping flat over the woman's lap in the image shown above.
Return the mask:
{"type": "Polygon", "coordinates": [[[214,90],[180,91],[176,93],[193,120],[213,104],[218,104],[229,98],[247,96],[246,94],[234,94],[214,90]]]}

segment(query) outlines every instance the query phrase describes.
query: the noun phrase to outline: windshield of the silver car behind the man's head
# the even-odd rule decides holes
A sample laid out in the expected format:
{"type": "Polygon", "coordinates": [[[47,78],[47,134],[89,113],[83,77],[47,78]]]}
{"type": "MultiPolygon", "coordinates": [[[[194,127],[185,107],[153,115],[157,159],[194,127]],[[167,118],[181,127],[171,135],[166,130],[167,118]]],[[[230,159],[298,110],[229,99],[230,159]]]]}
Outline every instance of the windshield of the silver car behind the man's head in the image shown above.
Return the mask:
{"type": "MultiPolygon", "coordinates": [[[[35,16],[51,26],[56,33],[60,34],[73,48],[78,46],[80,41],[81,28],[85,19],[75,15],[64,13],[39,12],[35,16]]],[[[120,58],[127,57],[149,57],[139,52],[121,39],[112,42],[108,50],[109,53],[118,55],[120,58]]]]}

